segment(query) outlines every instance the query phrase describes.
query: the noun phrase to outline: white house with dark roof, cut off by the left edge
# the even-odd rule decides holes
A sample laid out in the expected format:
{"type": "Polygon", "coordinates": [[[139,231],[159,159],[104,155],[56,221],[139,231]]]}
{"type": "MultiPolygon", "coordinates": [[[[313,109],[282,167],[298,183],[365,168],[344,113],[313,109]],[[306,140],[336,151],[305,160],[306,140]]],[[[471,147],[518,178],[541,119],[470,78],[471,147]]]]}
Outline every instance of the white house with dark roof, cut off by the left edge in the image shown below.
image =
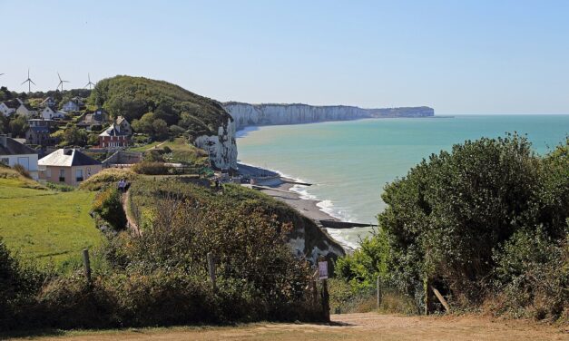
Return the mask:
{"type": "Polygon", "coordinates": [[[6,135],[0,135],[0,163],[10,167],[20,164],[34,180],[38,179],[37,151],[6,135]]]}

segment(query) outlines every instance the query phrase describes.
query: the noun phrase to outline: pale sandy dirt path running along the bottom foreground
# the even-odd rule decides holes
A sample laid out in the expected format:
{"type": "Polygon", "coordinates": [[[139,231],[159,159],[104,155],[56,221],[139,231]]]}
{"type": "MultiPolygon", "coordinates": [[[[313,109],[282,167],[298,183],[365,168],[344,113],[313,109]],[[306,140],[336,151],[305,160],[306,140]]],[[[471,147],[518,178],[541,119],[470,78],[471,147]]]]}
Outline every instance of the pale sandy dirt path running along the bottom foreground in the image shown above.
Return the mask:
{"type": "Polygon", "coordinates": [[[332,316],[332,326],[257,323],[245,326],[142,328],[75,332],[42,340],[569,340],[569,330],[529,321],[486,317],[399,317],[347,314],[332,316]]]}

